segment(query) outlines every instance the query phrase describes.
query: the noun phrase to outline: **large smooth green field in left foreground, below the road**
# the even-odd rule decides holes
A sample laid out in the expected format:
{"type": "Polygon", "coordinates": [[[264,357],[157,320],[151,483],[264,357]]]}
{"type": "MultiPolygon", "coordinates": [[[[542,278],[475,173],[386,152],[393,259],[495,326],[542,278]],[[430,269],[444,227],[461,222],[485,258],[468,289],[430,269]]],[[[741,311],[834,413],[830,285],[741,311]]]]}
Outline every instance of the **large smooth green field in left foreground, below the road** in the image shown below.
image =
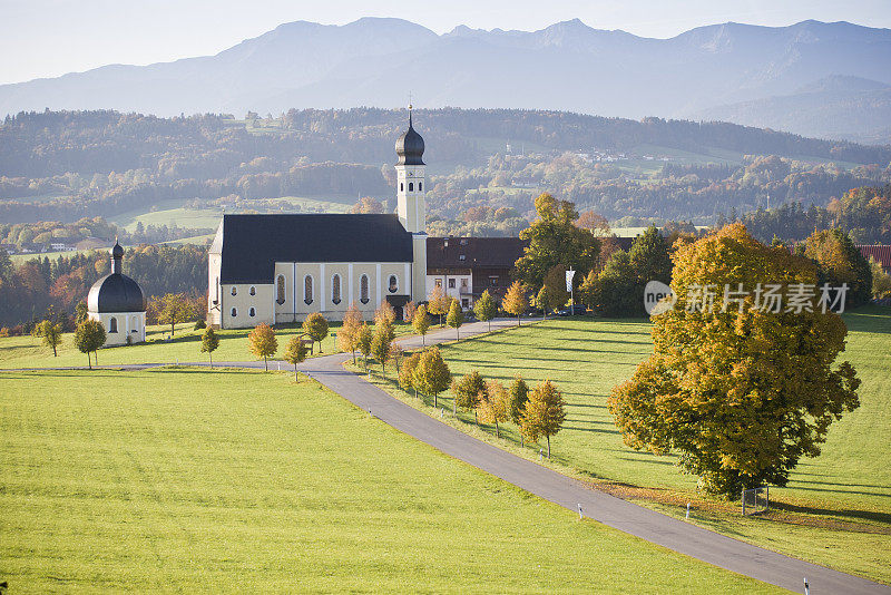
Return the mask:
{"type": "Polygon", "coordinates": [[[10,593],[779,593],[535,498],[288,374],[0,374],[10,593]]]}

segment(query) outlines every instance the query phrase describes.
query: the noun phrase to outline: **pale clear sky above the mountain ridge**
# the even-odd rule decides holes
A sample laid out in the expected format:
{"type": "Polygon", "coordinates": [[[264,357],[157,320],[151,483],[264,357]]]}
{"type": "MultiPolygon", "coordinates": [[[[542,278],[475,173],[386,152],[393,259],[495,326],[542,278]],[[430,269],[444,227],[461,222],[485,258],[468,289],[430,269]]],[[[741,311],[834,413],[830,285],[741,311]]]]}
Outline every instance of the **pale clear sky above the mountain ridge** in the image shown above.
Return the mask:
{"type": "Polygon", "coordinates": [[[726,21],[891,28],[891,0],[0,0],[0,84],[206,56],[283,22],[362,17],[398,17],[438,33],[458,25],[536,30],[579,18],[597,29],[668,38],[726,21]]]}

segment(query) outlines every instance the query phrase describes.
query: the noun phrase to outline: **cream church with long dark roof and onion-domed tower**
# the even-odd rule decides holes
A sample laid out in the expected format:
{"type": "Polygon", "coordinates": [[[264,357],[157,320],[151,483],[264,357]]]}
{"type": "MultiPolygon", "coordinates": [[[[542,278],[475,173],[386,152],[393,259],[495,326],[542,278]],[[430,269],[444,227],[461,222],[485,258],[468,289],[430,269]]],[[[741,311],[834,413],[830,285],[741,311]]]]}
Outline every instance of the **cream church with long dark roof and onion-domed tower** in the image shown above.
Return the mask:
{"type": "Polygon", "coordinates": [[[396,213],[224,215],[208,255],[207,322],[238,329],[342,320],[355,303],[365,320],[383,301],[400,314],[428,292],[424,140],[395,144],[396,213]]]}

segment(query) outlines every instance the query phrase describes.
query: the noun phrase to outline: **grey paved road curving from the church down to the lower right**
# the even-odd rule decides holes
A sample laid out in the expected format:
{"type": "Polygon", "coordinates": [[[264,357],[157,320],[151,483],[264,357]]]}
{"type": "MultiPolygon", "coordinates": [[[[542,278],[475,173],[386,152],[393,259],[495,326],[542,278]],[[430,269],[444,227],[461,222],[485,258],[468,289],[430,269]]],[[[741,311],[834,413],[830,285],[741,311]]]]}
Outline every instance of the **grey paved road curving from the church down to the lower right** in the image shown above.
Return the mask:
{"type": "MultiPolygon", "coordinates": [[[[502,320],[493,322],[492,326],[506,328],[512,324],[516,324],[516,321],[502,320]]],[[[461,335],[470,336],[486,330],[486,323],[467,324],[462,326],[461,335]]],[[[452,339],[454,339],[453,330],[438,331],[427,336],[427,344],[452,339]]],[[[421,345],[421,340],[409,338],[402,341],[402,345],[407,349],[417,348],[421,345]]],[[[891,595],[889,586],[703,529],[616,498],[582,481],[477,440],[394,399],[363,380],[361,375],[347,372],[341,365],[346,359],[349,355],[344,353],[324,355],[307,360],[300,369],[355,406],[366,411],[371,410],[374,417],[398,430],[574,513],[578,513],[580,506],[588,518],[681,554],[796,593],[804,592],[806,577],[813,595],[846,593],[891,595]]],[[[221,362],[217,365],[262,368],[263,362],[221,362]]],[[[115,368],[148,367],[151,364],[115,368]]]]}

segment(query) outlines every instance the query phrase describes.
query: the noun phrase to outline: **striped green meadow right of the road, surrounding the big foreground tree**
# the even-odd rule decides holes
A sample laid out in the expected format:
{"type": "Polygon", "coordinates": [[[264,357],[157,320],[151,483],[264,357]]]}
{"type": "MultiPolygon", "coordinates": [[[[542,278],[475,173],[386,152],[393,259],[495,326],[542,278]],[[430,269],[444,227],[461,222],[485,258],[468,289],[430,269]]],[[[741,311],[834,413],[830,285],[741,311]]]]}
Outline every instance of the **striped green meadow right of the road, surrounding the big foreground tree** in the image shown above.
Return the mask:
{"type": "MultiPolygon", "coordinates": [[[[863,381],[861,407],[833,425],[822,456],[804,459],[789,487],[771,489],[775,509],[761,517],[741,518],[737,505],[698,497],[696,478],[682,475],[675,457],[623,443],[606,400],[652,352],[648,322],[557,319],[444,345],[442,354],[457,374],[476,369],[506,383],[518,372],[531,382],[555,381],[568,414],[551,448],[565,469],[676,516],[692,501],[696,521],[716,530],[891,583],[891,313],[865,309],[844,318],[850,334],[843,357],[863,381]]],[[[418,402],[392,382],[386,389],[418,402]]],[[[447,410],[452,406],[449,393],[439,401],[447,410]]],[[[467,431],[482,433],[472,412],[459,419],[467,431]]],[[[520,451],[515,426],[501,435],[501,446],[520,451]]],[[[522,452],[532,457],[537,450],[522,452]]]]}

